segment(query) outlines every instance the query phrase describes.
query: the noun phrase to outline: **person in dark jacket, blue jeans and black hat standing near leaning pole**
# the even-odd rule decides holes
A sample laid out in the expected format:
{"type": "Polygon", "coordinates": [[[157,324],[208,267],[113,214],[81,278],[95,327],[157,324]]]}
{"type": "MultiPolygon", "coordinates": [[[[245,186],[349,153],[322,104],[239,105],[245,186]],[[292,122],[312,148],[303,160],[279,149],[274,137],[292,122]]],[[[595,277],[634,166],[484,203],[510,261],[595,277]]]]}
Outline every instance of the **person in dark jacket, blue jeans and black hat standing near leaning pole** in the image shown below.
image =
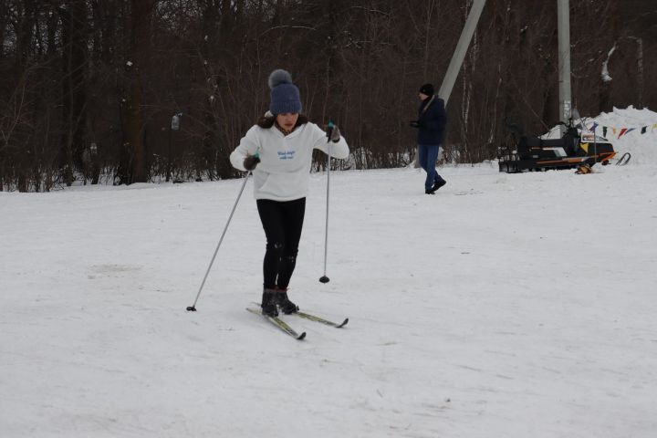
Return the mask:
{"type": "Polygon", "coordinates": [[[413,120],[411,126],[418,129],[418,162],[427,173],[424,193],[434,194],[447,183],[435,170],[438,151],[443,143],[447,113],[444,109],[444,100],[433,95],[432,84],[422,85],[419,95],[422,103],[418,111],[418,119],[413,120]]]}

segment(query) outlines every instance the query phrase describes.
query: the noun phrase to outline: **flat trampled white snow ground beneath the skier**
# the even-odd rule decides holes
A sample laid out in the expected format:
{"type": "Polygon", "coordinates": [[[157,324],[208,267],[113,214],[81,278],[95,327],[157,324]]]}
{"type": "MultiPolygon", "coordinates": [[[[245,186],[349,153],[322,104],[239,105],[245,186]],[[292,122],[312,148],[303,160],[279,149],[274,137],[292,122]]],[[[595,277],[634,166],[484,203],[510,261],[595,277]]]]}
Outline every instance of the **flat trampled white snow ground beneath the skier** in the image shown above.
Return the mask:
{"type": "MultiPolygon", "coordinates": [[[[651,117],[654,115],[652,113],[651,117]]],[[[657,121],[657,120],[655,120],[657,121]]],[[[630,138],[628,136],[628,138],[630,138]]],[[[331,173],[290,296],[245,311],[264,233],[242,181],[0,193],[0,436],[653,437],[657,132],[627,166],[331,173]]]]}

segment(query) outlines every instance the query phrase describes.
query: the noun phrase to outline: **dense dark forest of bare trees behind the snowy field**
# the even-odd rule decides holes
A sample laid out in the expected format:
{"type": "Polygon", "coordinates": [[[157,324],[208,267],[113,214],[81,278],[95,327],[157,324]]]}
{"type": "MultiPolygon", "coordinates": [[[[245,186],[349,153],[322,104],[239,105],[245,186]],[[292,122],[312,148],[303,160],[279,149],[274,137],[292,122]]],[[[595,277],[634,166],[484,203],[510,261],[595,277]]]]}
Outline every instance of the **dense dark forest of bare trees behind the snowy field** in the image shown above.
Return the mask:
{"type": "MultiPolygon", "coordinates": [[[[0,190],[234,177],[227,157],[266,111],[274,68],[292,73],[310,120],[339,124],[348,165],[407,165],[417,89],[439,87],[468,5],[0,1],[0,190]]],[[[655,106],[657,5],[583,0],[570,12],[579,111],[655,106]]],[[[556,21],[552,2],[486,3],[447,109],[448,161],[495,158],[507,121],[532,133],[558,121],[556,21]]],[[[325,165],[318,155],[314,169],[325,165]]]]}

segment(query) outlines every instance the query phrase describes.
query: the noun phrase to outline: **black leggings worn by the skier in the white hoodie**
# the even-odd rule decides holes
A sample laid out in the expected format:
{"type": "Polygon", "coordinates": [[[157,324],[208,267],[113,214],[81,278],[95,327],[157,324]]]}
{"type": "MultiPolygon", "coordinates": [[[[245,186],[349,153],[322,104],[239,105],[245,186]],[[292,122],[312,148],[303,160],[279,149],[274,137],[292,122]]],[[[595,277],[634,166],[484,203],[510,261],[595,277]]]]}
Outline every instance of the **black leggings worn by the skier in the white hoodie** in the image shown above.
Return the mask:
{"type": "Polygon", "coordinates": [[[306,198],[284,202],[258,199],[256,203],[267,240],[263,286],[287,288],[297,265],[306,198]]]}

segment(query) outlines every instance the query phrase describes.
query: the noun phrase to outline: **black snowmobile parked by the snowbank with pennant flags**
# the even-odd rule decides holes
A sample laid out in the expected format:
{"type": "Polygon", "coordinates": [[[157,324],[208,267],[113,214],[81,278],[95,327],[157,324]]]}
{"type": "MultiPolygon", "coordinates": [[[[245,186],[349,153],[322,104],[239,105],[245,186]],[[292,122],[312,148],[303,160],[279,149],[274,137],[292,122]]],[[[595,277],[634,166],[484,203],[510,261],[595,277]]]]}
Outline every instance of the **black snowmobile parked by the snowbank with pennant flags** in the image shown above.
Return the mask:
{"type": "Polygon", "coordinates": [[[560,139],[530,137],[524,135],[516,123],[507,123],[507,126],[513,141],[498,150],[499,172],[577,168],[579,173],[588,173],[596,162],[607,165],[616,155],[610,141],[595,132],[581,132],[585,128],[572,119],[560,139]]]}

